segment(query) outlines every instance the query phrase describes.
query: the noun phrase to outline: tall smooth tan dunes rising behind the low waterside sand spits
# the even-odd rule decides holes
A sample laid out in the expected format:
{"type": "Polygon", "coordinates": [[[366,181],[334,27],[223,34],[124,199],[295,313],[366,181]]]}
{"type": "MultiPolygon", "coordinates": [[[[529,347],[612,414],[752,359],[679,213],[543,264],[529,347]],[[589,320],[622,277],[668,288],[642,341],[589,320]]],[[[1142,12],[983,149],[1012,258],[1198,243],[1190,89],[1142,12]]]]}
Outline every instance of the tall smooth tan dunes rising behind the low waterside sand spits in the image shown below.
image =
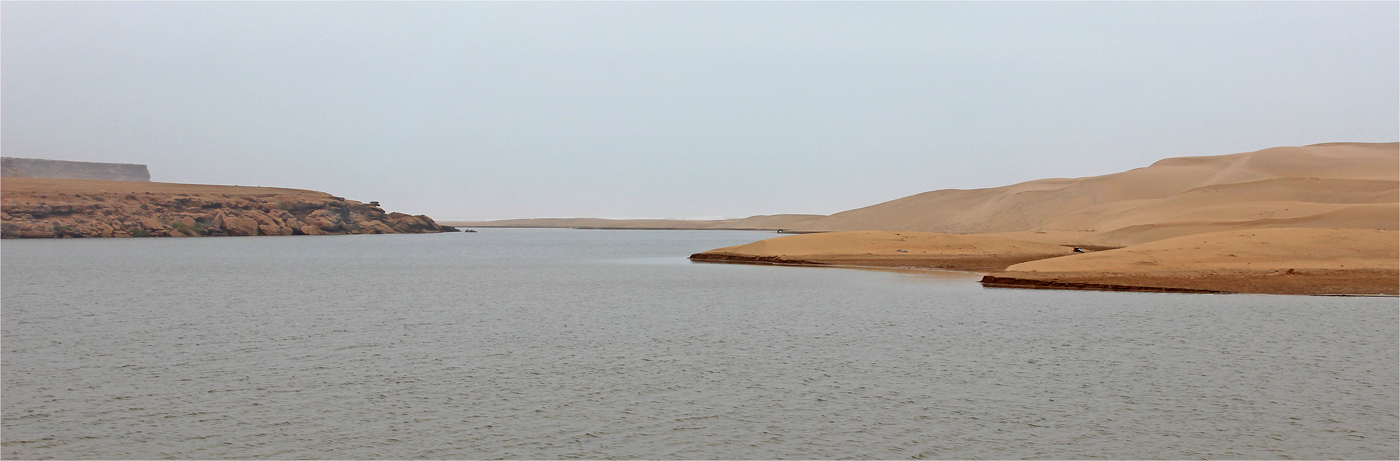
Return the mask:
{"type": "Polygon", "coordinates": [[[1147,168],[1092,178],[934,191],[794,227],[1092,231],[1096,234],[1091,241],[1105,245],[1239,227],[1396,230],[1400,227],[1394,212],[1400,209],[1397,177],[1397,143],[1275,147],[1231,156],[1166,158],[1147,168]],[[1341,221],[1334,223],[1334,219],[1341,221]]]}

